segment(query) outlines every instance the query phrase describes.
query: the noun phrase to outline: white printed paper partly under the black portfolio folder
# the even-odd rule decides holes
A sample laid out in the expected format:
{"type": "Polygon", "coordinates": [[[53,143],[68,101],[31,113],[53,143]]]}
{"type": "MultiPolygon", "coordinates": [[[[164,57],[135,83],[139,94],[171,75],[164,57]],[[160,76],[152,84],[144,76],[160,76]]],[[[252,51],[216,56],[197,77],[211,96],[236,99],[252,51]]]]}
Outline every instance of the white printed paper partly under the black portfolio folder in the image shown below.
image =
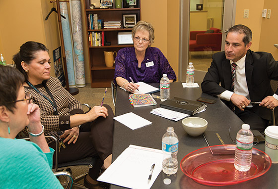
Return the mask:
{"type": "Polygon", "coordinates": [[[173,110],[169,110],[169,109],[161,108],[161,107],[151,110],[150,113],[170,119],[170,120],[174,120],[174,121],[179,121],[182,118],[190,116],[189,114],[185,114],[185,113],[181,113],[181,112],[177,112],[177,111],[173,111],[173,110]]]}

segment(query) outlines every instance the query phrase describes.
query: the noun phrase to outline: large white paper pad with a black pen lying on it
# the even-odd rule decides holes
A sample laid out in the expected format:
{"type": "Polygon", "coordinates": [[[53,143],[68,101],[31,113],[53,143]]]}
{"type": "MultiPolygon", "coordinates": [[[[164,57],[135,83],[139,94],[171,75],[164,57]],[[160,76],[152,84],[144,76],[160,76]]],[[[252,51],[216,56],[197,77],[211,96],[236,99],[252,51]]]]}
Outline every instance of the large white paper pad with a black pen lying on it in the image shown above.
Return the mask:
{"type": "Polygon", "coordinates": [[[131,144],[97,180],[131,189],[150,189],[162,170],[162,158],[162,150],[131,144]]]}

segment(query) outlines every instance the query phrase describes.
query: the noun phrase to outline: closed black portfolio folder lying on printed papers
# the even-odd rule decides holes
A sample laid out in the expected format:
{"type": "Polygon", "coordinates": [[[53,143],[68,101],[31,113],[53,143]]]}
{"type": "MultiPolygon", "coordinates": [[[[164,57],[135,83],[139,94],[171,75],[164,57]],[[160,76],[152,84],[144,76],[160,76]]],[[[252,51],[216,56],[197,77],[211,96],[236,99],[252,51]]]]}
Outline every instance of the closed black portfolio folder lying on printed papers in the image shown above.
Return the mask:
{"type": "Polygon", "coordinates": [[[174,97],[161,102],[160,107],[194,115],[205,109],[207,105],[198,101],[174,97]]]}

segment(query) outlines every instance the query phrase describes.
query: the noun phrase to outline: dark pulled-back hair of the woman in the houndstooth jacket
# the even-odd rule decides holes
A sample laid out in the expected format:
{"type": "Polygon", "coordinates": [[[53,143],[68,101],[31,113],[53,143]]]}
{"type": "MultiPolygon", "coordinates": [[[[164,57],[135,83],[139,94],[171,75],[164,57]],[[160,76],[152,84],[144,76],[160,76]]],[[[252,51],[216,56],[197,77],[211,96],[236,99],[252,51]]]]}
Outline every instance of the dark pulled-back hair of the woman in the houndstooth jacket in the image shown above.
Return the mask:
{"type": "Polygon", "coordinates": [[[48,49],[41,43],[38,42],[26,42],[23,44],[19,52],[13,55],[13,61],[15,64],[16,69],[18,69],[25,78],[25,81],[28,79],[25,70],[21,66],[21,62],[24,61],[26,64],[29,64],[31,60],[35,59],[35,53],[37,51],[47,51],[48,49]]]}

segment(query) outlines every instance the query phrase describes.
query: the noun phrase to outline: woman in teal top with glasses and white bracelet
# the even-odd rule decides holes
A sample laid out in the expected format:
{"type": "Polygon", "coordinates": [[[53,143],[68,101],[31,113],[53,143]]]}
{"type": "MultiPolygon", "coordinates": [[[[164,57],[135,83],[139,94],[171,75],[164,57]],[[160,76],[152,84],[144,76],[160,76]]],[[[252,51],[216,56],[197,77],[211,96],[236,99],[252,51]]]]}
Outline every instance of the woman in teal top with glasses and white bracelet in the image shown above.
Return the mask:
{"type": "Polygon", "coordinates": [[[0,65],[0,188],[63,189],[52,172],[54,149],[49,148],[39,106],[22,86],[23,75],[0,65]],[[16,140],[28,126],[31,142],[16,140]]]}

